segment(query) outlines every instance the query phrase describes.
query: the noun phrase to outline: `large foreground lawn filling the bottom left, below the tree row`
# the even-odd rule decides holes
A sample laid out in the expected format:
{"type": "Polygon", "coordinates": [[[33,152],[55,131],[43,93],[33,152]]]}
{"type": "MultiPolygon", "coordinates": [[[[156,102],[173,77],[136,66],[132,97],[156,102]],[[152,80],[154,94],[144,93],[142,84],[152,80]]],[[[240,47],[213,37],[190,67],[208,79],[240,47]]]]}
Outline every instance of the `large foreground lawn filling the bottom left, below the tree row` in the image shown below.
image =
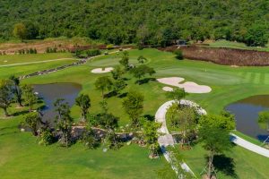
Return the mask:
{"type": "Polygon", "coordinates": [[[106,153],[82,143],[69,149],[39,146],[30,132],[19,131],[20,121],[0,121],[1,178],[156,178],[167,165],[164,158],[151,160],[148,150],[135,144],[106,153]]]}

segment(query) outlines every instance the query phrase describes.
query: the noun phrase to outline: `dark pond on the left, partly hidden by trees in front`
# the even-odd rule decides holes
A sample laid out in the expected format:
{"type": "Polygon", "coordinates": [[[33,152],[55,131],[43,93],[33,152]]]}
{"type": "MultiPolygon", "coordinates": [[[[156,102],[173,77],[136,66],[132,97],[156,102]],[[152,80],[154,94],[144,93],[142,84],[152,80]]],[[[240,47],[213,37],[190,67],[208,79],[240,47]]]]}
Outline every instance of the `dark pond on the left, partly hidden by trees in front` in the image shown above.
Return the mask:
{"type": "Polygon", "coordinates": [[[52,84],[37,84],[33,85],[34,91],[39,93],[39,98],[43,98],[46,107],[43,107],[43,121],[48,121],[53,124],[55,121],[54,102],[57,98],[64,98],[69,106],[74,105],[75,98],[82,90],[81,85],[75,83],[52,83],[52,84]]]}

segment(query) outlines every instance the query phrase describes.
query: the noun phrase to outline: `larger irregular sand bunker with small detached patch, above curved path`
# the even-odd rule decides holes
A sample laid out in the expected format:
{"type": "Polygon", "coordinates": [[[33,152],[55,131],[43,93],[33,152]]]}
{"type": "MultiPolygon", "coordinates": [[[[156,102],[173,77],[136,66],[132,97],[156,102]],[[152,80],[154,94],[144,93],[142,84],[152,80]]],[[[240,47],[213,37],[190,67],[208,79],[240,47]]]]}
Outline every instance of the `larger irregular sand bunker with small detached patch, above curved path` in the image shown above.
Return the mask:
{"type": "MultiPolygon", "coordinates": [[[[163,84],[170,85],[170,86],[182,88],[186,90],[186,92],[188,93],[208,93],[208,92],[211,92],[212,90],[209,86],[199,85],[191,81],[187,81],[181,84],[179,82],[184,81],[184,78],[180,78],[180,77],[161,78],[161,79],[157,79],[157,81],[163,84]]],[[[163,87],[162,90],[171,91],[172,88],[163,87]]]]}

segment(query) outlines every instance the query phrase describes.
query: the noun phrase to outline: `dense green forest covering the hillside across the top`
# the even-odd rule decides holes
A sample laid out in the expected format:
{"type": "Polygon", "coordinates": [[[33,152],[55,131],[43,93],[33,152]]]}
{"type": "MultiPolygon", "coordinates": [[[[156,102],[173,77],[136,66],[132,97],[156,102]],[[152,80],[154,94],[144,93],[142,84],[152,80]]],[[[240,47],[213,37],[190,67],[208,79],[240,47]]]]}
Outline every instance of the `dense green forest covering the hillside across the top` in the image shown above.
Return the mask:
{"type": "Polygon", "coordinates": [[[107,43],[168,46],[175,39],[237,40],[264,46],[268,0],[1,0],[0,38],[89,37],[107,43]]]}

